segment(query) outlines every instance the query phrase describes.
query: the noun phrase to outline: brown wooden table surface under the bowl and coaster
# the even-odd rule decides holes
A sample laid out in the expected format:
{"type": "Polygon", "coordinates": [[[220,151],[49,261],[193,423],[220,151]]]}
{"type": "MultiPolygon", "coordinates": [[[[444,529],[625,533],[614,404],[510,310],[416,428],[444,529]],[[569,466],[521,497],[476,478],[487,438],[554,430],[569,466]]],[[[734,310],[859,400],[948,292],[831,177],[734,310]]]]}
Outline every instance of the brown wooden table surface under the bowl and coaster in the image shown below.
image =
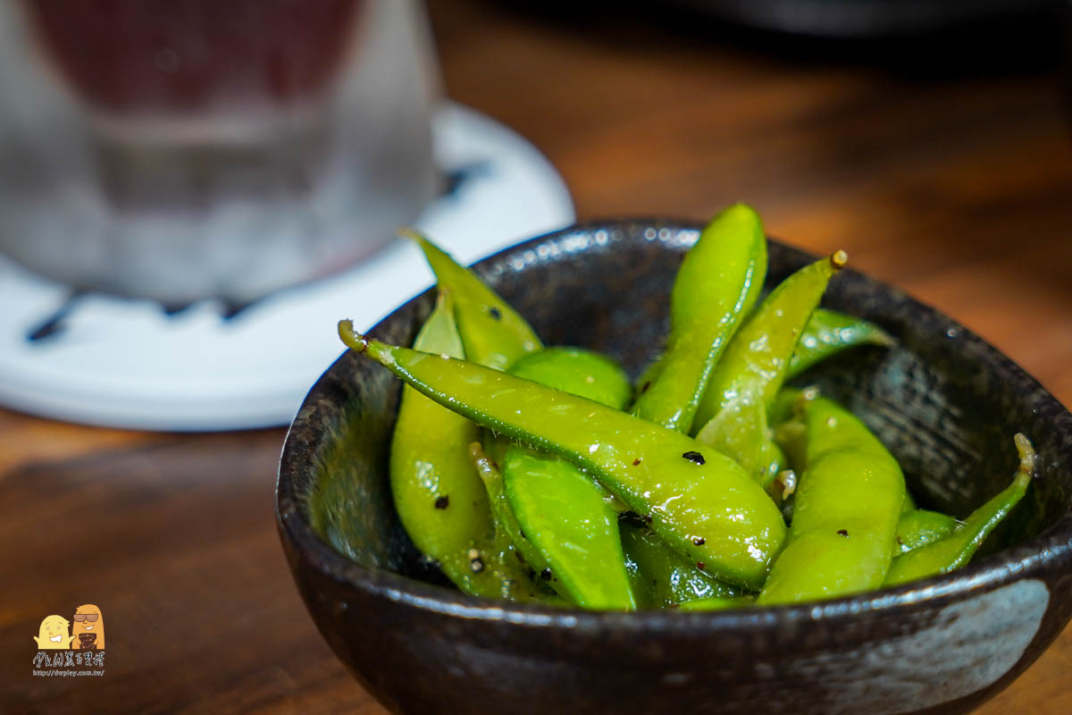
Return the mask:
{"type": "MultiPolygon", "coordinates": [[[[982,334],[1072,404],[1072,151],[1056,73],[903,75],[644,23],[431,3],[446,90],[530,137],[582,219],[769,232],[982,334]]],[[[0,412],[0,712],[384,712],[313,627],[273,519],[284,430],[179,435],[0,412]],[[31,676],[99,605],[103,677],[31,676]]],[[[1072,712],[1072,630],[979,712],[1072,712]]]]}

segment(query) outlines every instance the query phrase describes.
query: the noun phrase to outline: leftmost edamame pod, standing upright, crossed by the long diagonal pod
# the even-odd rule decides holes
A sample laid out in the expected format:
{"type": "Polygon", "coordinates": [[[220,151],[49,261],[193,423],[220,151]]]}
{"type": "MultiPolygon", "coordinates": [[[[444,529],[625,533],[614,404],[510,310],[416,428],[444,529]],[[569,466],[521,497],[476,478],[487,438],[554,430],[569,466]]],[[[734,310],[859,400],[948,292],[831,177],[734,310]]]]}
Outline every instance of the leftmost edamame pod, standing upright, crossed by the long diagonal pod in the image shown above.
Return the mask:
{"type": "MultiPolygon", "coordinates": [[[[440,294],[414,347],[464,355],[447,294],[440,294]]],[[[468,444],[478,434],[468,419],[403,387],[391,437],[391,493],[414,545],[459,589],[516,598],[524,594],[524,574],[497,557],[488,497],[468,459],[468,444]]]]}

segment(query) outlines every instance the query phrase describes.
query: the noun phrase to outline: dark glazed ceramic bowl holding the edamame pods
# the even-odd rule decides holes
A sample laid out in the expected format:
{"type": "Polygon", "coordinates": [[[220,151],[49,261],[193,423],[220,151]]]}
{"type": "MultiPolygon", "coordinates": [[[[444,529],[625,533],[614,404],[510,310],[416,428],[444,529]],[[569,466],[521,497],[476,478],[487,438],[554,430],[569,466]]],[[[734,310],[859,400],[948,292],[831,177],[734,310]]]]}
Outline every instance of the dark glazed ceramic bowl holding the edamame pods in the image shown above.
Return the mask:
{"type": "MultiPolygon", "coordinates": [[[[696,236],[693,225],[592,224],[477,270],[548,344],[604,351],[636,375],[659,346],[696,236]]],[[[807,260],[772,243],[771,281],[807,260]]],[[[415,298],[372,334],[410,344],[432,302],[431,292],[415,298]]],[[[717,613],[465,596],[422,564],[391,508],[400,383],[347,353],[306,398],[279,472],[280,535],[321,632],[372,695],[405,713],[962,713],[994,696],[1070,617],[1072,415],[899,291],[845,271],[825,303],[899,340],[846,354],[807,382],[866,420],[923,505],[966,515],[1008,485],[1013,433],[1034,441],[1039,478],[971,565],[851,598],[717,613]]]]}

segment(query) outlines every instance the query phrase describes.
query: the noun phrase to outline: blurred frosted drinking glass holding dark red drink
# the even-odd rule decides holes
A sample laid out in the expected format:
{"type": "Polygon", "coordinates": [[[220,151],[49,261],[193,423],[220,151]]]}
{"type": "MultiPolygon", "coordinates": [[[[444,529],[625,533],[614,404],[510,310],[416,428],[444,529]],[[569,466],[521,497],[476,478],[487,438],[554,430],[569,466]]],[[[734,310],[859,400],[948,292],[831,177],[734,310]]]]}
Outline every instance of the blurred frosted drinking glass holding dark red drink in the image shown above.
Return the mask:
{"type": "Polygon", "coordinates": [[[0,252],[75,288],[242,304],[433,197],[408,0],[0,2],[0,252]]]}

